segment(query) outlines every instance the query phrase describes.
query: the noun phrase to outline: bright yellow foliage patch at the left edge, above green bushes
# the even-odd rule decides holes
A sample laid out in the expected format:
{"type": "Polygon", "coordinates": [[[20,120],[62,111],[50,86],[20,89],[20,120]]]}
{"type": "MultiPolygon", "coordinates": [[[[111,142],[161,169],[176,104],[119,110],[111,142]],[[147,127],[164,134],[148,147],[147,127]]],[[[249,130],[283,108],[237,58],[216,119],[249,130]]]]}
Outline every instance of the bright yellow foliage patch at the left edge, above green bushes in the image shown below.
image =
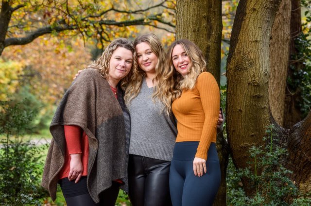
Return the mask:
{"type": "Polygon", "coordinates": [[[19,86],[19,76],[23,75],[23,64],[0,59],[0,101],[7,100],[19,86]]]}

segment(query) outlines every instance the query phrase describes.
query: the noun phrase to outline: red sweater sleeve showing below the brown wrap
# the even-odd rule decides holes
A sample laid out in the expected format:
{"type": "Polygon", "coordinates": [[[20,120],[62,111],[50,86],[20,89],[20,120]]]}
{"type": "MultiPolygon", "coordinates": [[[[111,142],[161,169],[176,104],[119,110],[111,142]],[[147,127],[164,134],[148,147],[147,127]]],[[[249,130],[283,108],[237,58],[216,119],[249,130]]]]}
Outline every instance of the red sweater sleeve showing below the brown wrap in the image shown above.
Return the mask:
{"type": "Polygon", "coordinates": [[[81,128],[75,125],[65,125],[65,138],[69,154],[82,153],[81,150],[81,128]]]}

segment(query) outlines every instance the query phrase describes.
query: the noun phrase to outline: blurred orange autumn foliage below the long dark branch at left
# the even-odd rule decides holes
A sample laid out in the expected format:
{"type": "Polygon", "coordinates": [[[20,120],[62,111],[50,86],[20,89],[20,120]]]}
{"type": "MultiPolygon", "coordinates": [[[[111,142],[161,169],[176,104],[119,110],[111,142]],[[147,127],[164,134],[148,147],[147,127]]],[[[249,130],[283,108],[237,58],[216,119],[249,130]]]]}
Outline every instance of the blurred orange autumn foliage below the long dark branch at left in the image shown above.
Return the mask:
{"type": "Polygon", "coordinates": [[[91,63],[90,51],[81,39],[51,36],[6,48],[1,58],[23,63],[25,75],[20,81],[29,82],[32,93],[48,105],[60,100],[74,74],[91,63]]]}

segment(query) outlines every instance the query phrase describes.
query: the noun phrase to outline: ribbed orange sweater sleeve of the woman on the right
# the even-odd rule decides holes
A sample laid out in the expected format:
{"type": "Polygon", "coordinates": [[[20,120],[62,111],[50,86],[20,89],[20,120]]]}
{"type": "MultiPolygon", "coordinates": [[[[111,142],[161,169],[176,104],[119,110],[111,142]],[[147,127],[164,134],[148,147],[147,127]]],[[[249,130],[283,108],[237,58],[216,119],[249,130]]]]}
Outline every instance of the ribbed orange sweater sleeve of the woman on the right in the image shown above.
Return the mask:
{"type": "Polygon", "coordinates": [[[210,143],[213,139],[216,139],[220,91],[216,79],[210,73],[202,73],[198,76],[197,89],[200,94],[205,120],[195,157],[206,159],[210,143]]]}

